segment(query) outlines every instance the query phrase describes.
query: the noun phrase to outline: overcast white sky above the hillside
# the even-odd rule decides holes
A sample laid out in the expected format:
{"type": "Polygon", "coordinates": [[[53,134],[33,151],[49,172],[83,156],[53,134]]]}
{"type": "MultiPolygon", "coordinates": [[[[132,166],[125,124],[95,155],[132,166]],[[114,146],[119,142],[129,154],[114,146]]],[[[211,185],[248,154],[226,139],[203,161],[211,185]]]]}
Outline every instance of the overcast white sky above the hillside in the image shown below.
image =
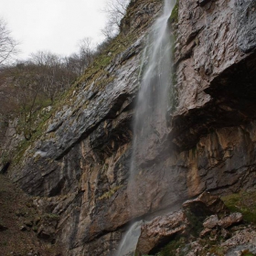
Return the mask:
{"type": "Polygon", "coordinates": [[[0,17],[20,43],[20,58],[38,50],[69,56],[84,37],[102,40],[105,1],[0,0],[0,17]]]}

